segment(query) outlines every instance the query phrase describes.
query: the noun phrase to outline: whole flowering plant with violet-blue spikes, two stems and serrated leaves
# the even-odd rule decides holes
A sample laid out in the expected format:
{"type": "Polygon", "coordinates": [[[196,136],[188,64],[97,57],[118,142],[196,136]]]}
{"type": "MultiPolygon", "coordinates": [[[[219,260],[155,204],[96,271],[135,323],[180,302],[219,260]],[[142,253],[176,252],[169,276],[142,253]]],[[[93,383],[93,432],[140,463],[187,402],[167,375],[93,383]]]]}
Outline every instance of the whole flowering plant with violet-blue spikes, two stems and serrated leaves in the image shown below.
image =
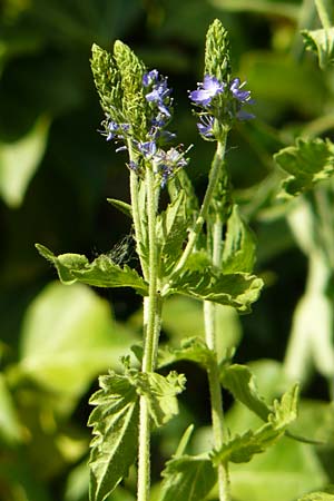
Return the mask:
{"type": "MultiPolygon", "coordinates": [[[[166,374],[166,367],[185,360],[207,373],[213,439],[202,454],[188,454],[194,426],[186,428],[163,472],[159,500],[202,501],[217,485],[219,500],[230,501],[230,463],[249,462],[283,436],[306,440],[289,429],[297,416],[298,386],[292,385],[267,403],[249,367],[233,363],[233,350],[218,350],[219,305],[249,313],[263,287],[263,279],[253,272],[254,236],[234,200],[226,166],[228,134],[236,122],[254,118],[247,111],[254,101],[245,82],[232,75],[228,33],[215,20],[207,32],[203,81],[189,91],[200,136],[216,144],[206,191],[199,200],[187,174],[190,147],[175,146],[176,136],[167,129],[173,119],[167,78],[157,69],[148,70],[120,41],[115,42],[112,55],[94,46],[91,68],[105,112],[101,134],[128,155],[130,204],[111,202],[131,218],[138,266],[121,266],[107,255],[91,263],[78,254],[55,256],[38,246],[63,283],[131,287],[143,296],[143,344],[132,346],[134,356],[122,358],[121,374],[110,372],[100,377],[100,389],[90,400],[95,406],[88,423],[94,435],[90,499],[106,500],[134,464],[137,500],[150,499],[151,433],[178,414],[177,395],[186,386],[183,374],[175,370],[166,374]],[[165,205],[163,194],[168,196],[165,205]],[[205,340],[190,337],[178,347],[161,350],[161,312],[173,295],[202,302],[205,340]],[[262,423],[255,430],[229,434],[222,386],[259,418],[262,423]]],[[[288,170],[286,155],[281,151],[277,163],[288,170]]],[[[296,186],[306,189],[298,169],[293,174],[295,177],[286,180],[286,191],[296,186]]]]}

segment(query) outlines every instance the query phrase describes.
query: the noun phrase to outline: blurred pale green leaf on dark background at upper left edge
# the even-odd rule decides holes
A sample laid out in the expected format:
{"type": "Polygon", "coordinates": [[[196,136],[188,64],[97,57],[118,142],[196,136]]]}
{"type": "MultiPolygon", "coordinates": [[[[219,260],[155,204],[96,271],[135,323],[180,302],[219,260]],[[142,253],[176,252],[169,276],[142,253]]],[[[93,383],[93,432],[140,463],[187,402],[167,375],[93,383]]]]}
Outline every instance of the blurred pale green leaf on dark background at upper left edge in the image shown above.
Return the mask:
{"type": "Polygon", "coordinates": [[[0,143],[0,195],[10,207],[19,207],[48,141],[50,121],[37,120],[32,129],[14,143],[0,143]]]}

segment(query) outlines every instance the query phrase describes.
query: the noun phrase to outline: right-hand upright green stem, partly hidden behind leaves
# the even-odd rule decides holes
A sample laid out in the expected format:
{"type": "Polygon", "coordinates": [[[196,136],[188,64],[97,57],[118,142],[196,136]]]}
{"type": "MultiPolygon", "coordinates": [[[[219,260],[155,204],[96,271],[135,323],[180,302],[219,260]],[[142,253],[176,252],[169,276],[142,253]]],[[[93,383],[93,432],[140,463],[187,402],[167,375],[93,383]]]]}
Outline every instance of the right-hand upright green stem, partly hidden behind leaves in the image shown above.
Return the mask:
{"type": "MultiPolygon", "coordinates": [[[[222,261],[223,222],[218,216],[213,227],[213,265],[219,267],[222,261]]],[[[204,324],[207,346],[213,352],[213,361],[208,367],[208,383],[212,405],[212,423],[215,449],[219,450],[224,443],[224,411],[219,381],[219,366],[216,351],[216,305],[204,302],[204,324]]],[[[228,464],[218,466],[219,501],[230,501],[228,464]]]]}

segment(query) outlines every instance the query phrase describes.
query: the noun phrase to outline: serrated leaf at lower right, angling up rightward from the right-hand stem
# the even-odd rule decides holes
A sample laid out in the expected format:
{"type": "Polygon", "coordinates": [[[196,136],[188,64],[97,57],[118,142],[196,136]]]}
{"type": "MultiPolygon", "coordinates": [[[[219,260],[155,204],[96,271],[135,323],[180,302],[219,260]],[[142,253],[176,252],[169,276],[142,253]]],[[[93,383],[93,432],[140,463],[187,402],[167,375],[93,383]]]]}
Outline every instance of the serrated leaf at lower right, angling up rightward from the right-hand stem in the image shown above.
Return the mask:
{"type": "Polygon", "coordinates": [[[275,401],[268,421],[258,430],[248,430],[242,435],[235,435],[223,444],[219,451],[213,453],[215,465],[234,462],[247,463],[255,454],[264,452],[284,435],[286,428],[297,416],[298,386],[284,393],[281,401],[275,401]]]}

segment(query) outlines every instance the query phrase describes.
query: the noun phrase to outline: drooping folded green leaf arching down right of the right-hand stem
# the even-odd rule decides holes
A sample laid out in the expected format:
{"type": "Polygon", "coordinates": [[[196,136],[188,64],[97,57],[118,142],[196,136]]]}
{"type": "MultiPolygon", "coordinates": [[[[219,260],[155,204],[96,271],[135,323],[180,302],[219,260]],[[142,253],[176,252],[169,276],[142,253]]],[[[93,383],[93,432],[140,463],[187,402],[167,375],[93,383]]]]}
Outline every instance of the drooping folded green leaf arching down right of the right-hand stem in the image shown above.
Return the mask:
{"type": "Polygon", "coordinates": [[[267,421],[271,407],[258,394],[255,376],[246,365],[233,364],[222,370],[222,384],[235,400],[246,405],[263,421],[267,421]]]}

